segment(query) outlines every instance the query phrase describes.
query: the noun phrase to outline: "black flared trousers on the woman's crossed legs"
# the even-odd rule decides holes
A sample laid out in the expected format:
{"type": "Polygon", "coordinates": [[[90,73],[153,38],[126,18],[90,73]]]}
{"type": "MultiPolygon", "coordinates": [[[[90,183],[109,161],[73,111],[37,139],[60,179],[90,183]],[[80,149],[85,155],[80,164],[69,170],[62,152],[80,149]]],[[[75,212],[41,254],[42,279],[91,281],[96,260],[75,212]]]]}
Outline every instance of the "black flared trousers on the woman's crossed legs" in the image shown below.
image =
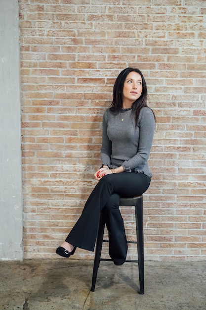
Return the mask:
{"type": "Polygon", "coordinates": [[[150,185],[144,173],[121,172],[105,175],[93,189],[66,240],[70,244],[94,251],[100,212],[109,233],[109,253],[112,259],[125,259],[127,242],[124,222],[119,209],[120,197],[142,195],[150,185]]]}

